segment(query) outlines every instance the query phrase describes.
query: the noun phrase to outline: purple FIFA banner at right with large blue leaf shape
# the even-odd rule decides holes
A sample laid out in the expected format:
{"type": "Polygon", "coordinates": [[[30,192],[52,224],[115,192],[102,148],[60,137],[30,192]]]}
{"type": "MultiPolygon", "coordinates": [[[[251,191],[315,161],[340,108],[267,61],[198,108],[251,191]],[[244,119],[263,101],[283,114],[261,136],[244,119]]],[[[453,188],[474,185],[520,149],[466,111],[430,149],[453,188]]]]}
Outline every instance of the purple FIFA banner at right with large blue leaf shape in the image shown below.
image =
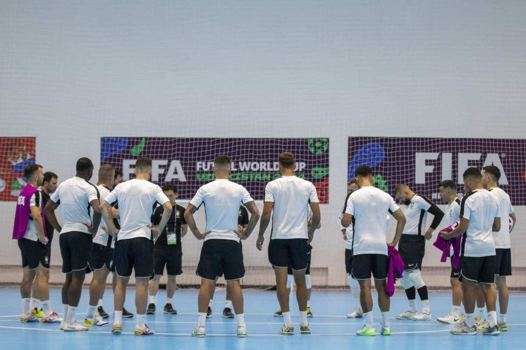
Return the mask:
{"type": "Polygon", "coordinates": [[[375,186],[394,195],[398,183],[441,200],[439,184],[452,180],[463,192],[462,174],[471,166],[495,165],[499,185],[513,205],[526,204],[526,140],[442,139],[435,137],[349,137],[347,178],[360,165],[373,170],[375,186]]]}

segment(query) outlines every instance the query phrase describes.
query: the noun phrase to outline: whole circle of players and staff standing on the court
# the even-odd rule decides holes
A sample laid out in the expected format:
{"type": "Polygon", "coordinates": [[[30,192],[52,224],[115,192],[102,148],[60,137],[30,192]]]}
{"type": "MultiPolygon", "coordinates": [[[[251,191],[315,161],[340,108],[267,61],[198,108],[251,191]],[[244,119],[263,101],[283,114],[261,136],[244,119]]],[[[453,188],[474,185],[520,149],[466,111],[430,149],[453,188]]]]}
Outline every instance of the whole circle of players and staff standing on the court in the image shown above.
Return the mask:
{"type": "MultiPolygon", "coordinates": [[[[306,271],[310,266],[310,242],[315,230],[320,227],[318,197],[312,183],[294,176],[294,155],[284,152],[280,154],[278,163],[281,177],[266,185],[261,217],[246,188],[228,181],[230,159],[225,155],[215,158],[215,181],[201,186],[187,208],[176,204],[177,189],[174,186],[167,185],[161,189],[149,182],[152,168],[148,158],[139,158],[134,171],[136,178],[123,183],[120,183],[122,174],[119,174],[119,179],[112,166],[102,165],[97,185],[89,183],[94,167],[88,158],[80,158],[76,164],[76,176],[58,187],[55,174],[44,174],[42,166],[29,165],[25,171],[27,186],[17,202],[13,233],[22,253],[24,271],[21,321],[39,319],[42,322],[60,322],[64,331],[87,331],[88,326],[107,324],[104,319],[108,314],[102,309],[102,295],[109,272],[114,272],[112,332],[119,334],[122,332],[122,318],[133,316],[124,309],[124,301],[131,272],[135,270],[135,334],[154,334],[145,324],[145,315],[156,312],[155,295],[165,265],[168,284],[164,312],[177,313],[171,306],[171,298],[176,287],[176,275],[183,272],[181,238],[190,228],[197,239],[204,240],[196,269],[201,287],[197,326],[192,335],[206,336],[205,320],[211,317],[210,305],[216,281],[224,275],[227,302],[223,316],[235,317],[237,336],[246,337],[248,332],[240,287],[240,280],[245,275],[241,240],[251,235],[261,219],[256,242],[257,249],[261,250],[265,231],[272,219],[268,257],[274,267],[280,304],[275,316],[284,317],[284,326],[279,333],[294,334],[289,309],[289,293],[294,279],[300,310],[300,333],[309,334],[311,330],[307,317],[312,316],[308,303],[311,281],[306,271]],[[201,232],[194,214],[203,204],[206,207],[206,229],[201,232]],[[59,224],[54,213],[58,207],[62,211],[63,225],[59,224]],[[53,229],[60,234],[62,271],[66,274],[62,289],[62,319],[50,308],[47,288],[53,229]],[[75,314],[85,274],[91,271],[94,275],[89,288],[89,306],[84,325],[81,325],[75,320],[75,314]],[[33,308],[31,296],[40,300],[40,306],[33,308]],[[232,308],[235,314],[231,312],[232,308]]],[[[477,326],[484,334],[491,335],[499,334],[499,328],[507,330],[505,275],[511,274],[510,228],[507,224],[501,225],[500,211],[509,211],[513,221],[515,217],[509,196],[497,186],[499,177],[500,172],[494,166],[485,167],[482,174],[476,168],[469,168],[464,173],[464,187],[469,194],[461,201],[456,197],[454,183],[445,181],[440,185],[442,198],[449,203],[448,225],[460,221],[452,232],[442,231],[440,235],[449,240],[463,234],[461,266],[451,274],[452,310],[446,317],[438,319],[443,323],[460,322],[460,327],[452,330],[453,334],[477,334],[477,326]],[[491,190],[491,194],[484,188],[491,190]],[[504,227],[508,228],[507,232],[502,229],[504,227]],[[495,232],[495,243],[492,231],[495,232]],[[494,274],[498,275],[499,323],[495,313],[494,274]],[[458,278],[462,280],[462,287],[457,282],[458,278]],[[479,306],[485,301],[488,309],[488,321],[485,323],[485,315],[481,317],[479,314],[478,320],[473,315],[478,289],[479,306]],[[459,295],[462,291],[465,320],[461,320],[459,314],[462,299],[459,295]]],[[[444,216],[443,212],[428,198],[414,194],[403,184],[395,188],[397,198],[404,204],[400,209],[390,195],[372,186],[372,172],[367,166],[356,170],[356,178],[347,189],[347,200],[340,210],[339,219],[347,241],[345,259],[349,285],[357,299],[357,309],[348,317],[364,317],[366,321],[357,334],[376,335],[372,321],[371,274],[382,312],[380,334],[391,333],[390,299],[386,293],[388,247],[397,245],[405,263],[400,282],[409,300],[409,310],[398,315],[397,319],[431,320],[427,287],[420,271],[426,239],[431,239],[432,232],[444,216]],[[434,218],[423,234],[428,212],[434,218]],[[397,228],[393,240],[386,244],[388,213],[397,220],[397,228]],[[417,291],[422,300],[420,313],[415,306],[417,291]]],[[[503,216],[508,220],[507,215],[503,216]]]]}

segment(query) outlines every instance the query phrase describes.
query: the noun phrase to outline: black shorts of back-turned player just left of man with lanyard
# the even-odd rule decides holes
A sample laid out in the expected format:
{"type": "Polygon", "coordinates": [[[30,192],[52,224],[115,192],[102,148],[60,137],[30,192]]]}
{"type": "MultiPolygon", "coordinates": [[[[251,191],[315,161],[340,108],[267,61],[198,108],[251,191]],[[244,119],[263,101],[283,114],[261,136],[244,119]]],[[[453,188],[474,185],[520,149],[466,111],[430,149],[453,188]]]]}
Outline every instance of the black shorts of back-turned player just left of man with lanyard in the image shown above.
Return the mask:
{"type": "Polygon", "coordinates": [[[118,240],[115,244],[115,272],[119,277],[150,277],[154,273],[154,241],[146,237],[118,240]]]}

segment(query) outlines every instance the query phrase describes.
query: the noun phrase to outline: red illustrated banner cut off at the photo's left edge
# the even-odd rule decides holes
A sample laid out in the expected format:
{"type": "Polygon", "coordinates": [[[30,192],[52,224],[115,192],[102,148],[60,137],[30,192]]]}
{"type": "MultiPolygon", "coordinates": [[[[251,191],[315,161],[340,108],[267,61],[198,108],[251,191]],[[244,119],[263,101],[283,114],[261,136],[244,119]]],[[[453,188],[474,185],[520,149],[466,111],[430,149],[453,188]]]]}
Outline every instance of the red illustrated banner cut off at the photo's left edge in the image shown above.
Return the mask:
{"type": "Polygon", "coordinates": [[[35,164],[35,137],[0,137],[0,201],[17,200],[29,164],[35,164]]]}

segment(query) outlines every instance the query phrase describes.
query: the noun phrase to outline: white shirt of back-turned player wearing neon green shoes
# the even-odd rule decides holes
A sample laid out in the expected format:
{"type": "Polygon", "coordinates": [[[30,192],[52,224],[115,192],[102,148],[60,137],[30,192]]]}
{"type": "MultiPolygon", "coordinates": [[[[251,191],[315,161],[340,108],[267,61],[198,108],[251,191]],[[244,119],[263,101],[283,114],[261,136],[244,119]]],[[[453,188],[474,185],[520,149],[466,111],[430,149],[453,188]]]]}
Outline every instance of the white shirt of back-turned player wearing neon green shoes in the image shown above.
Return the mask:
{"type": "Polygon", "coordinates": [[[398,209],[395,200],[376,187],[360,187],[353,192],[345,208],[354,219],[352,254],[387,255],[386,215],[398,209]]]}

